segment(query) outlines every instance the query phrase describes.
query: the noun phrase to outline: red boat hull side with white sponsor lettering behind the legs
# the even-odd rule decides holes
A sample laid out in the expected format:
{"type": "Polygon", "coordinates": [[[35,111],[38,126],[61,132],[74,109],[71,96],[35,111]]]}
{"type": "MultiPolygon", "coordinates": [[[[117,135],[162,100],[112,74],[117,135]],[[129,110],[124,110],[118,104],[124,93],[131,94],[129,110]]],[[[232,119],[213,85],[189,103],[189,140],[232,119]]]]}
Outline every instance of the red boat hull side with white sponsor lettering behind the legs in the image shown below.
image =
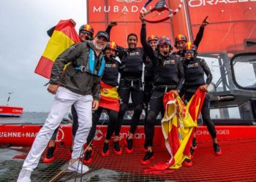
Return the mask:
{"type": "MultiPolygon", "coordinates": [[[[41,129],[40,124],[2,124],[0,127],[0,145],[31,146],[34,138],[41,129]]],[[[216,126],[219,141],[235,139],[256,138],[256,126],[216,126]]],[[[107,125],[98,126],[94,138],[94,146],[102,146],[107,132],[107,125]]],[[[129,126],[123,126],[120,132],[120,143],[124,144],[129,132],[129,126]]],[[[135,146],[143,146],[145,140],[144,127],[139,125],[134,135],[135,146]]],[[[197,141],[211,141],[207,127],[200,126],[196,130],[197,141]]],[[[72,145],[71,125],[61,125],[56,138],[56,143],[63,146],[72,145]]],[[[162,127],[156,126],[154,133],[154,145],[165,148],[162,127]]]]}

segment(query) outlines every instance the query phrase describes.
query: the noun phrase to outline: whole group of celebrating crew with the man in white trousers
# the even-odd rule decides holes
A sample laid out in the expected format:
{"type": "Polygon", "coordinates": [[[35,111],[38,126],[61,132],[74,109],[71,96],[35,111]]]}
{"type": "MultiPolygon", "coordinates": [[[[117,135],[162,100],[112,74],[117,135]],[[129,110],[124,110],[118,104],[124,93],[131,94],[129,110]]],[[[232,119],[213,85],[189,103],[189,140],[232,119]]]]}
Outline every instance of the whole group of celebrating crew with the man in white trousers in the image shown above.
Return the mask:
{"type": "MultiPolygon", "coordinates": [[[[203,38],[204,27],[208,24],[207,17],[200,25],[194,42],[187,41],[184,35],[176,36],[174,44],[176,52],[173,51],[171,41],[166,36],[158,38],[156,35],[151,35],[146,39],[144,17],[145,15],[141,13],[140,43],[143,47],[137,47],[138,36],[135,33],[129,33],[127,36],[127,48],[110,41],[110,31],[117,25],[116,22],[111,22],[106,31],[98,31],[95,36],[91,25],[80,26],[81,42],[73,44],[62,52],[53,63],[48,86],[48,92],[55,94],[53,106],[23,163],[18,181],[31,181],[31,172],[37,167],[42,152],[47,146],[48,151],[43,162],[53,162],[56,133],[64,114],[70,107],[73,116],[73,145],[70,149],[72,157],[68,169],[86,173],[89,167],[85,164],[92,162],[92,143],[97,122],[103,110],[108,113],[109,124],[101,155],[107,157],[110,154],[110,138],[114,132],[114,152],[117,155],[123,153],[118,143],[119,132],[130,95],[134,113],[126,138],[125,151],[127,153],[133,152],[134,135],[140,114],[145,108],[146,139],[143,148],[146,153],[140,163],[147,165],[154,157],[152,148],[154,124],[159,112],[162,116],[165,112],[163,106],[165,92],[173,92],[175,96],[184,96],[186,103],[197,88],[207,90],[212,79],[211,71],[205,60],[197,58],[197,47],[203,38]],[[119,58],[121,63],[116,58],[119,58]],[[67,63],[70,64],[64,69],[67,63]],[[145,65],[144,84],[142,82],[143,64],[145,65]],[[207,76],[206,81],[204,74],[207,76]],[[87,143],[87,150],[83,155],[85,143],[87,143]],[[80,157],[83,157],[83,164],[80,163],[80,157]]],[[[70,22],[75,25],[72,19],[70,22]]],[[[48,31],[48,35],[51,36],[53,31],[54,27],[48,31]]],[[[215,154],[220,155],[222,151],[219,148],[214,123],[210,119],[209,102],[208,94],[206,94],[201,114],[213,138],[215,154]]],[[[194,137],[191,153],[196,146],[197,142],[194,137]]],[[[184,162],[187,166],[191,164],[190,160],[184,162]]]]}

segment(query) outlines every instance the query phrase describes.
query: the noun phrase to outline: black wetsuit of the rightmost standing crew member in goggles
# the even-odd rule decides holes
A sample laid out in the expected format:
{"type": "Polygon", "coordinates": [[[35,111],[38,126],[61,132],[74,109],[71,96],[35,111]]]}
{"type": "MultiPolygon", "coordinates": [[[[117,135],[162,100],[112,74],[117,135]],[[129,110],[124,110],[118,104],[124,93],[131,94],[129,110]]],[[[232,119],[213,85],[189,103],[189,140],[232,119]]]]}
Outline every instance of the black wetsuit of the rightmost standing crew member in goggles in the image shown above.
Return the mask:
{"type": "MultiPolygon", "coordinates": [[[[192,60],[183,60],[184,67],[184,100],[189,102],[190,98],[195,94],[198,87],[203,84],[210,84],[212,80],[212,75],[210,68],[208,68],[206,60],[200,58],[193,58],[192,60]],[[207,79],[205,82],[204,74],[206,74],[207,79]]],[[[208,93],[206,94],[206,98],[203,102],[203,106],[201,109],[201,114],[203,118],[203,122],[206,123],[208,131],[211,134],[211,138],[216,138],[216,130],[214,126],[214,122],[211,121],[210,118],[210,97],[208,93]]]]}

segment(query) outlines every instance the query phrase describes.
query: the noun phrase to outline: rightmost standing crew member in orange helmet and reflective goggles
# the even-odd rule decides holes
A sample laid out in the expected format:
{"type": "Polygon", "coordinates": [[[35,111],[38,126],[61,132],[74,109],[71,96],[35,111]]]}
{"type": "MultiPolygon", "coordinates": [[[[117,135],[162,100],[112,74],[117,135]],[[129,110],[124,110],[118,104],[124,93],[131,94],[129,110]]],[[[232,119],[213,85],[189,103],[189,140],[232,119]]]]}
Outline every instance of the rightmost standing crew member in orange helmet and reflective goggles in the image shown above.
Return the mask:
{"type": "MultiPolygon", "coordinates": [[[[188,103],[190,98],[192,98],[192,96],[195,94],[197,88],[207,91],[208,85],[212,80],[212,75],[210,68],[207,66],[206,60],[197,58],[197,47],[195,44],[187,42],[183,47],[183,54],[184,59],[182,62],[184,67],[185,81],[182,90],[184,90],[184,100],[186,103],[188,103]],[[204,79],[204,74],[207,76],[206,81],[204,79]]],[[[212,122],[210,118],[210,97],[208,93],[206,93],[206,98],[201,108],[201,114],[203,122],[206,123],[208,132],[213,139],[214,152],[216,155],[221,155],[222,151],[220,150],[217,141],[217,133],[214,122],[212,122]]],[[[183,165],[191,165],[189,164],[190,162],[191,161],[189,159],[186,159],[183,165]]]]}

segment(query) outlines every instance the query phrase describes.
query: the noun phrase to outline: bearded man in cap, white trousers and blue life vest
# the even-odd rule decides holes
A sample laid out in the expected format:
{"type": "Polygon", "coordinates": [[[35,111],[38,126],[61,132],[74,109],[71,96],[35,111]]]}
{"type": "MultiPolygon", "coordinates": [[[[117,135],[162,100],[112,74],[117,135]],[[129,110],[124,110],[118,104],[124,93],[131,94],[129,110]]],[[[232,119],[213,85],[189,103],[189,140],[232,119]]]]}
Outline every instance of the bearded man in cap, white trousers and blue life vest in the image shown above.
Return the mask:
{"type": "Polygon", "coordinates": [[[79,126],[68,169],[78,173],[89,170],[89,167],[80,164],[79,158],[91,128],[92,111],[99,106],[99,81],[105,68],[102,50],[108,40],[108,33],[99,31],[93,41],[73,44],[53,63],[48,86],[48,92],[56,94],[53,106],[23,163],[18,181],[31,181],[31,172],[37,167],[50,137],[72,104],[78,112],[79,126]],[[64,70],[67,63],[70,64],[64,70]]]}

